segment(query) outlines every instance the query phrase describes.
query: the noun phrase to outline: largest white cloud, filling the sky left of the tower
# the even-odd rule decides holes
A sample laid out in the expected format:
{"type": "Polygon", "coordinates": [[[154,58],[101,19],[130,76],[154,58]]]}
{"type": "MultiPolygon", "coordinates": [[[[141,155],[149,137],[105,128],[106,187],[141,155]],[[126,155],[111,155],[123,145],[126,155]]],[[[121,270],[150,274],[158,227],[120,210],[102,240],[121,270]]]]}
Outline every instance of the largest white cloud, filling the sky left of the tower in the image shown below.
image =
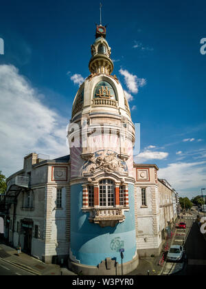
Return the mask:
{"type": "Polygon", "coordinates": [[[0,65],[0,96],[0,163],[5,175],[22,169],[27,153],[50,158],[69,153],[67,120],[41,103],[44,96],[13,65],[0,65]]]}

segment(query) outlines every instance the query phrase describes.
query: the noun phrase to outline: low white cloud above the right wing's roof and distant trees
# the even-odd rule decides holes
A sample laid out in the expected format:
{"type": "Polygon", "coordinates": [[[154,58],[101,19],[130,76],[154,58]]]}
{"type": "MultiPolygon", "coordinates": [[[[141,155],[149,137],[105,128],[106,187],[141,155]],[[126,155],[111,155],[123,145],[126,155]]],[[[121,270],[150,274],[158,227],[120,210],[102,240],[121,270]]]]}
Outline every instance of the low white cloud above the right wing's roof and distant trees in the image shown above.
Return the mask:
{"type": "Polygon", "coordinates": [[[159,169],[159,178],[165,178],[182,195],[198,195],[196,188],[205,187],[204,162],[177,162],[159,169]]]}

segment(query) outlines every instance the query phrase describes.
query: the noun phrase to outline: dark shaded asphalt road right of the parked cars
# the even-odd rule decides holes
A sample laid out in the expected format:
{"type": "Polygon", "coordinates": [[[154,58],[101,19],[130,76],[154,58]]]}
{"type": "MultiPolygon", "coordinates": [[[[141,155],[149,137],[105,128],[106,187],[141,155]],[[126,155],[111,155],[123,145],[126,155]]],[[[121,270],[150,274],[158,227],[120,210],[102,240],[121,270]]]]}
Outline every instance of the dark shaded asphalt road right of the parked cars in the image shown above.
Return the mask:
{"type": "Polygon", "coordinates": [[[205,275],[206,272],[206,241],[200,228],[192,220],[185,220],[188,235],[185,240],[186,260],[183,270],[176,275],[205,275]]]}

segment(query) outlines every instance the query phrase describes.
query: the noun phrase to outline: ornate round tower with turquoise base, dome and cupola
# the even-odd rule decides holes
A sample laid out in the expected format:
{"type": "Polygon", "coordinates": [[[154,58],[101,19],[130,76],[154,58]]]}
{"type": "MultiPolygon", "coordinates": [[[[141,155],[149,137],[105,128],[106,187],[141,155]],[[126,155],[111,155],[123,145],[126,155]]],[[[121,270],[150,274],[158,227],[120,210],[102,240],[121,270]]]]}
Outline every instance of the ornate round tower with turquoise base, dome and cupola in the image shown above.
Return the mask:
{"type": "Polygon", "coordinates": [[[83,275],[124,274],[137,267],[133,144],[135,129],[113,72],[106,28],[91,45],[91,74],[73,101],[69,267],[83,275]],[[119,250],[124,248],[124,258],[119,250]]]}

